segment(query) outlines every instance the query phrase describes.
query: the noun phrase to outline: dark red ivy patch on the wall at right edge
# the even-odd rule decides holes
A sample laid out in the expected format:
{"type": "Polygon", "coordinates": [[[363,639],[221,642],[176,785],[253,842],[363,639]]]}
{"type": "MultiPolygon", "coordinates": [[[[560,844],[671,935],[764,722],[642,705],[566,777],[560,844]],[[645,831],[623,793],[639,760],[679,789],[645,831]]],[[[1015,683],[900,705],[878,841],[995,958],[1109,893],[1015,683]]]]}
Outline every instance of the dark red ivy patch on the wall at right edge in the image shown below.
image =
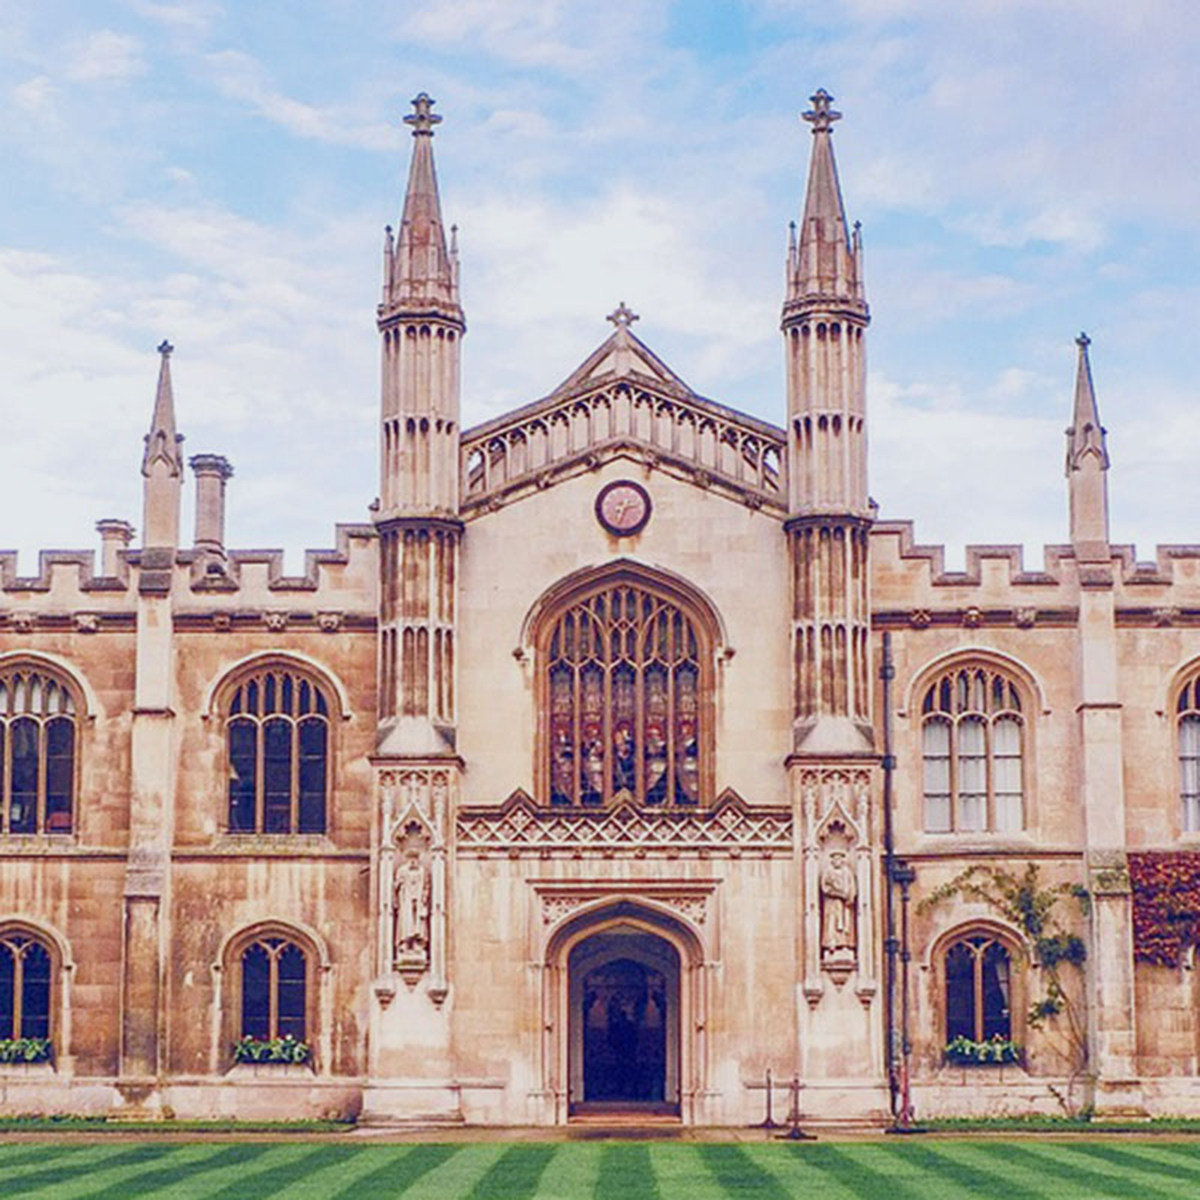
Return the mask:
{"type": "Polygon", "coordinates": [[[1177,967],[1200,934],[1200,851],[1130,854],[1129,884],[1134,958],[1177,967]]]}

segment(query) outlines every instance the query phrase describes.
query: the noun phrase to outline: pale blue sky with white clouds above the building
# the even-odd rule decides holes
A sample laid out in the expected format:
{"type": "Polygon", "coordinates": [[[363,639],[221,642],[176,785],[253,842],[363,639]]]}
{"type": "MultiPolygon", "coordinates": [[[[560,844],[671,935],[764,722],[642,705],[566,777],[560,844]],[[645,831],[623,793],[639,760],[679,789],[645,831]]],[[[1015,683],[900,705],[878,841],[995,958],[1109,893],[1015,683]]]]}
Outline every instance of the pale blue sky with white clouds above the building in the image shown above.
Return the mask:
{"type": "Polygon", "coordinates": [[[882,516],[1031,565],[1064,540],[1086,329],[1115,540],[1200,541],[1198,61],[1193,0],[0,0],[0,545],[32,571],[140,521],[164,336],[185,452],[234,463],[230,545],[299,565],[365,518],[419,90],[466,422],[550,391],[618,300],[697,391],[781,421],[817,86],[864,227],[882,516]]]}

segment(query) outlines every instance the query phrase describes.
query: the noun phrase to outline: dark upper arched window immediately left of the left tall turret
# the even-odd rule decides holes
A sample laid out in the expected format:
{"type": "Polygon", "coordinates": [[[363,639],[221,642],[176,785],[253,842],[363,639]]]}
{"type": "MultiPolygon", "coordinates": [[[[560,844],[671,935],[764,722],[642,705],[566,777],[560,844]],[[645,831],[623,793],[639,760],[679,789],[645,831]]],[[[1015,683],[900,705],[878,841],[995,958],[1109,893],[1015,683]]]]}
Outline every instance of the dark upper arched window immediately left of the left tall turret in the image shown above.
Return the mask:
{"type": "Polygon", "coordinates": [[[312,679],[272,665],[229,695],[230,833],[324,833],[329,702],[312,679]]]}

